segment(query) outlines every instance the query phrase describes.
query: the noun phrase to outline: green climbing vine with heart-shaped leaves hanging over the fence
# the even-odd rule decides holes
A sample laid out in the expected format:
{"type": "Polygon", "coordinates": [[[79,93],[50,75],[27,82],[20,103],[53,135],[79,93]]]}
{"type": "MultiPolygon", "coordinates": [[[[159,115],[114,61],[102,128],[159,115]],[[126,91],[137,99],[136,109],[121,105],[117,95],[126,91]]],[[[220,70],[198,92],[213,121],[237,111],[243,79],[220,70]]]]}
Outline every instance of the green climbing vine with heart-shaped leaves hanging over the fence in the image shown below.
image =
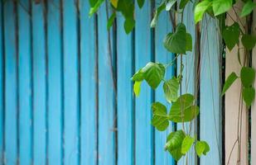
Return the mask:
{"type": "MultiPolygon", "coordinates": [[[[100,5],[105,0],[89,0],[91,9],[89,15],[92,16],[98,11],[100,5]]],[[[145,0],[137,0],[138,7],[142,7],[145,0]]],[[[254,11],[256,4],[252,0],[201,0],[201,1],[190,1],[190,0],[162,0],[161,4],[157,7],[152,18],[151,27],[155,27],[157,24],[157,18],[161,12],[171,12],[181,15],[180,22],[174,26],[174,32],[170,32],[166,35],[163,42],[164,47],[171,52],[176,54],[176,58],[179,57],[179,75],[174,76],[171,79],[165,79],[166,69],[173,64],[162,63],[152,63],[149,62],[145,67],[140,68],[137,73],[133,75],[133,91],[136,97],[139,97],[141,91],[142,81],[147,82],[147,84],[152,87],[152,89],[157,89],[162,84],[162,90],[167,101],[171,104],[171,110],[167,113],[167,106],[164,106],[161,102],[152,103],[152,125],[159,131],[167,130],[168,125],[171,122],[181,123],[182,129],[171,132],[167,136],[166,150],[171,153],[171,156],[176,160],[180,160],[181,157],[185,156],[186,153],[194,146],[197,155],[200,157],[202,154],[206,154],[210,151],[210,146],[204,140],[196,139],[192,137],[189,131],[186,131],[184,123],[191,122],[196,119],[199,115],[200,108],[196,105],[196,98],[191,93],[181,94],[181,83],[182,83],[182,70],[184,64],[182,63],[182,56],[186,56],[187,52],[192,51],[192,36],[186,31],[186,25],[183,23],[183,12],[188,3],[193,3],[194,6],[194,19],[195,24],[200,24],[203,16],[209,15],[217,20],[222,19],[230,10],[234,10],[235,18],[234,24],[231,26],[220,27],[221,36],[225,41],[227,49],[230,51],[234,49],[237,45],[243,45],[244,52],[247,52],[244,59],[240,59],[240,54],[238,51],[238,60],[241,65],[241,71],[239,75],[236,73],[231,73],[225,81],[223,87],[222,96],[231,87],[231,85],[238,79],[241,81],[242,88],[242,98],[247,106],[247,109],[251,106],[255,97],[255,89],[253,87],[255,79],[254,68],[250,67],[249,64],[249,51],[253,50],[256,37],[249,34],[246,27],[243,25],[241,19],[244,17],[249,17],[254,11]],[[242,8],[239,13],[236,12],[235,5],[237,3],[242,3],[242,8]],[[180,94],[179,94],[180,92],[180,94]]],[[[109,16],[108,28],[110,28],[114,23],[114,18],[116,12],[121,12],[125,18],[123,27],[126,33],[133,31],[135,26],[134,19],[134,6],[135,3],[132,0],[110,0],[110,5],[113,9],[112,15],[109,16]]],[[[172,25],[173,24],[172,22],[172,25]]],[[[195,25],[196,26],[196,25],[195,25]]]]}

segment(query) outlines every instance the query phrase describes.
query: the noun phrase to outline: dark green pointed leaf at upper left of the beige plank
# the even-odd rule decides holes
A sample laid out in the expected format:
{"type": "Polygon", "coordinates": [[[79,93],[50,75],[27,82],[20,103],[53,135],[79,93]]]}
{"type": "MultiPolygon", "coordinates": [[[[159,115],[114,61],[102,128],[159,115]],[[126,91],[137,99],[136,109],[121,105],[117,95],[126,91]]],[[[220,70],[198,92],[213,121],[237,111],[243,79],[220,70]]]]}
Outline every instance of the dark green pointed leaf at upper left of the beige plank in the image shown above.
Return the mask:
{"type": "Polygon", "coordinates": [[[239,35],[240,28],[237,22],[234,22],[232,26],[225,26],[222,36],[229,50],[232,50],[234,45],[239,43],[239,35]]]}

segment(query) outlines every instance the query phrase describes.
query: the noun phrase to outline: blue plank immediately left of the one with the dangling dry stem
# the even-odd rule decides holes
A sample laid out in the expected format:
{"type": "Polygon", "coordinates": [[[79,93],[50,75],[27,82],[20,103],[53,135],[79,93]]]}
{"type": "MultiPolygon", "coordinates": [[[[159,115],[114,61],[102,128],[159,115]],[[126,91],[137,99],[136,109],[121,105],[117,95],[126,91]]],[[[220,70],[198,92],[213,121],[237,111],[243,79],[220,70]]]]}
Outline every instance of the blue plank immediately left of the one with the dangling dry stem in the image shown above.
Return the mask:
{"type": "Polygon", "coordinates": [[[80,1],[81,51],[81,164],[96,163],[96,60],[95,19],[89,18],[89,1],[80,1]]]}

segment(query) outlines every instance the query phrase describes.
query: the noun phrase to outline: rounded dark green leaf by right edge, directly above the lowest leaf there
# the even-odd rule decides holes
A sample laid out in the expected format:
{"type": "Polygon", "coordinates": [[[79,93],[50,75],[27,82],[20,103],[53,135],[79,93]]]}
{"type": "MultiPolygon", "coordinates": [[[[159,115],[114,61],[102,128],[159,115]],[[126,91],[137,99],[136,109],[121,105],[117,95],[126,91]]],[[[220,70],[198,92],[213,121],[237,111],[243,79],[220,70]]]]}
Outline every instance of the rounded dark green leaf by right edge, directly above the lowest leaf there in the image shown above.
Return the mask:
{"type": "Polygon", "coordinates": [[[244,87],[250,87],[253,85],[255,79],[254,68],[243,67],[240,72],[240,77],[244,87]]]}

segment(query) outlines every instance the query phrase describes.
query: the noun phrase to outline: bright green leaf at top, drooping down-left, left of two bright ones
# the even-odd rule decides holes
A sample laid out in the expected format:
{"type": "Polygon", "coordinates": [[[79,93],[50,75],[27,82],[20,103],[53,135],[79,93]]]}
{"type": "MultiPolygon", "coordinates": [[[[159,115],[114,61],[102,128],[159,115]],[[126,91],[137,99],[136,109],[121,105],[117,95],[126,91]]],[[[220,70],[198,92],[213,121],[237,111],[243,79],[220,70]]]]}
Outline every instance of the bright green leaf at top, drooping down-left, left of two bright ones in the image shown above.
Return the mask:
{"type": "Polygon", "coordinates": [[[204,13],[210,7],[211,2],[209,0],[204,0],[199,2],[195,7],[195,23],[201,21],[203,19],[204,13]]]}

